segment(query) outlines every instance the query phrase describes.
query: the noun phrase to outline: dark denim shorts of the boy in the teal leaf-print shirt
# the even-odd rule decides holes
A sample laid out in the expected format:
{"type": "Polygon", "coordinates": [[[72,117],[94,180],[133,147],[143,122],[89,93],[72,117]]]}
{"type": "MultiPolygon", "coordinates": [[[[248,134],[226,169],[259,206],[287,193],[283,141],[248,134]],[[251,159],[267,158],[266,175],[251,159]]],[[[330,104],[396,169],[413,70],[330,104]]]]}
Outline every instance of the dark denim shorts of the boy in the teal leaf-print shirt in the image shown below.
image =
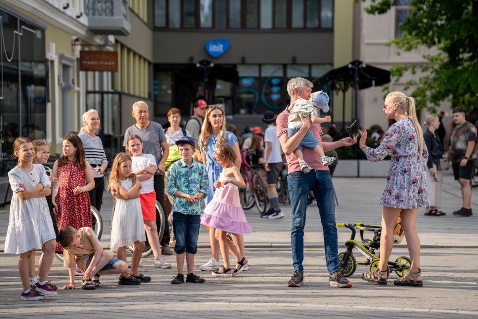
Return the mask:
{"type": "Polygon", "coordinates": [[[179,212],[173,213],[172,228],[176,245],[174,252],[182,254],[185,251],[190,254],[197,252],[197,237],[201,226],[201,215],[185,215],[179,212]]]}

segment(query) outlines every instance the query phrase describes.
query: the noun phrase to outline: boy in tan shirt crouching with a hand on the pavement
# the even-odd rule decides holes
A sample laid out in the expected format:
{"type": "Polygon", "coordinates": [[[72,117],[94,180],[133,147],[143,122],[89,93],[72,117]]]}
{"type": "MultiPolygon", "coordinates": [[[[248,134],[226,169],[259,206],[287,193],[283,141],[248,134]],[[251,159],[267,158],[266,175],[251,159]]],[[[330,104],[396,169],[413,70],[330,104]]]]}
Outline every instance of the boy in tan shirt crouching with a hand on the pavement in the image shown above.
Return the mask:
{"type": "Polygon", "coordinates": [[[63,265],[68,266],[70,283],[64,289],[75,289],[75,265],[84,273],[81,280],[83,289],[95,289],[100,285],[100,275],[127,274],[128,265],[114,258],[111,250],[103,250],[92,228],[64,227],[59,231],[63,246],[63,265]]]}

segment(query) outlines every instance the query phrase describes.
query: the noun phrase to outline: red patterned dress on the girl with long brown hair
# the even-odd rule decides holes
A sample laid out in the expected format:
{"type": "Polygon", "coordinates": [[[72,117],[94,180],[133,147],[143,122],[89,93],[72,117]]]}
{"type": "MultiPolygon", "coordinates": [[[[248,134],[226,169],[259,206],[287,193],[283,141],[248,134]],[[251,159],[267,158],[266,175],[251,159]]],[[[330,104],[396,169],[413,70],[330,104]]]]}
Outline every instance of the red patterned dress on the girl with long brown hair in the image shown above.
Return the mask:
{"type": "MultiPolygon", "coordinates": [[[[58,208],[58,229],[72,226],[76,229],[81,227],[92,227],[92,216],[89,211],[91,202],[87,192],[74,194],[76,186],[85,185],[84,171],[80,170],[74,161],[68,161],[63,166],[58,166],[58,194],[55,197],[58,208]]],[[[59,243],[56,245],[56,252],[63,253],[59,243]]]]}

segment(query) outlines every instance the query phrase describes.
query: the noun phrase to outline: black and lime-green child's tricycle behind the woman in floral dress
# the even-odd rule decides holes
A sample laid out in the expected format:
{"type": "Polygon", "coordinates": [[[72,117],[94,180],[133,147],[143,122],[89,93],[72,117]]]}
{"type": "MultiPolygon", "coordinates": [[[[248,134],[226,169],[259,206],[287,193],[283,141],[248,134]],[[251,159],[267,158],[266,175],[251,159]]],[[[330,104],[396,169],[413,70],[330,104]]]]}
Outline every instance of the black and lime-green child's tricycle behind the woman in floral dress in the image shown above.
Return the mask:
{"type": "MultiPolygon", "coordinates": [[[[380,225],[365,225],[363,223],[337,224],[337,228],[339,227],[347,227],[352,231],[352,236],[345,242],[347,250],[339,254],[339,271],[344,274],[344,276],[349,277],[353,275],[357,269],[357,265],[370,266],[370,271],[374,271],[375,268],[378,269],[379,254],[376,254],[375,250],[380,247],[380,234],[382,227],[380,225]],[[356,230],[360,231],[360,241],[355,240],[356,230]],[[373,232],[373,239],[367,239],[364,237],[366,231],[370,233],[373,232]],[[366,259],[363,261],[356,260],[352,253],[353,248],[359,250],[366,259]]],[[[404,231],[399,217],[397,220],[397,226],[394,230],[394,245],[399,244],[403,240],[403,236],[404,231]]],[[[400,256],[395,259],[395,262],[389,261],[389,269],[390,272],[395,271],[398,276],[403,277],[406,272],[410,271],[410,264],[409,257],[400,256]]]]}

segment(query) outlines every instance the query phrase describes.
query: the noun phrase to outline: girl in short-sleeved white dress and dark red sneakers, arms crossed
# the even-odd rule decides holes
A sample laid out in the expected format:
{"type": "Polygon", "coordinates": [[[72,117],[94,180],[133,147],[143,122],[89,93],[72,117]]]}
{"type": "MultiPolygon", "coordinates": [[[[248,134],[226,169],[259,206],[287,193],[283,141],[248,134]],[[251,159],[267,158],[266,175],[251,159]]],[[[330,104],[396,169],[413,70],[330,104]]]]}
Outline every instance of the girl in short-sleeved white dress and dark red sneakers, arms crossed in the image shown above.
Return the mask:
{"type": "Polygon", "coordinates": [[[23,285],[22,300],[45,299],[56,295],[48,282],[48,273],[55,253],[55,231],[45,196],[50,195],[51,182],[45,168],[32,164],[35,149],[32,141],[19,137],[13,144],[18,164],[8,172],[13,196],[10,202],[10,221],[5,240],[5,252],[20,254],[18,272],[23,285]],[[30,258],[35,249],[43,249],[38,273],[40,281],[31,286],[28,278],[30,258]]]}

